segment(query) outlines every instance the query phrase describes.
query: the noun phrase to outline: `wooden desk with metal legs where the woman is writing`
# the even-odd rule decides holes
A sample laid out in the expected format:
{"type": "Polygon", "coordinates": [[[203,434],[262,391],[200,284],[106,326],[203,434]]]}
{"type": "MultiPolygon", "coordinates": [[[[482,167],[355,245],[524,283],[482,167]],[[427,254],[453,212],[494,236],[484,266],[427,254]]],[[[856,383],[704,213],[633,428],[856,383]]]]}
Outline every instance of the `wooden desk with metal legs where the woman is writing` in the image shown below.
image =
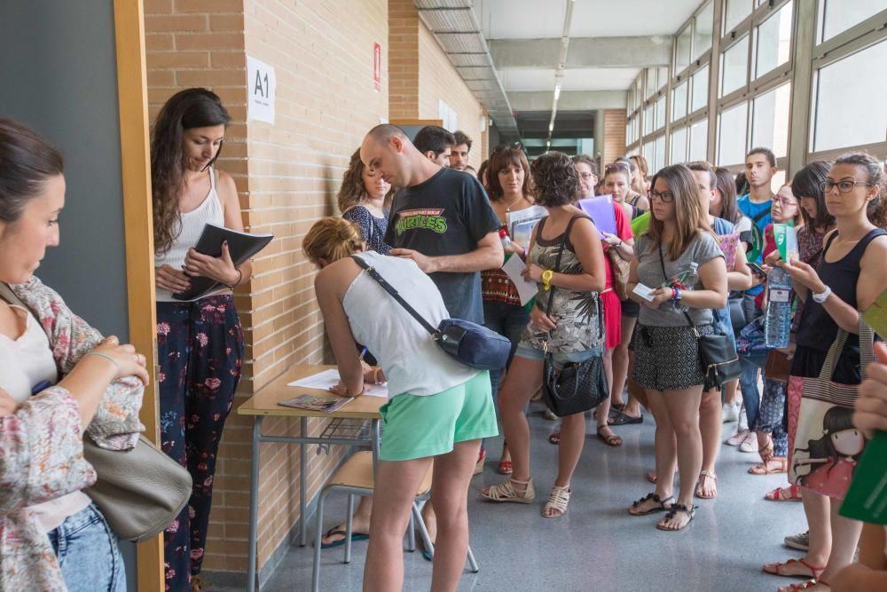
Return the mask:
{"type": "Polygon", "coordinates": [[[379,423],[381,414],[379,408],[383,406],[388,399],[381,397],[358,397],[351,401],[345,407],[337,409],[332,413],[323,411],[309,411],[307,409],[295,409],[294,407],[282,407],[280,401],[293,399],[295,396],[308,393],[311,395],[335,397],[328,391],[318,391],[315,389],[306,389],[303,387],[287,386],[295,380],[304,378],[305,376],[315,375],[334,368],[334,366],[295,366],[287,370],[286,373],[280,375],[274,381],[266,385],[261,391],[255,393],[253,397],[246,403],[237,408],[239,415],[253,416],[253,454],[252,465],[250,467],[249,479],[249,540],[248,540],[248,556],[247,556],[247,586],[249,592],[255,591],[255,572],[256,572],[256,539],[258,535],[258,519],[259,519],[259,445],[263,442],[274,442],[280,444],[298,444],[299,446],[299,510],[300,510],[300,533],[299,544],[304,547],[307,541],[307,524],[308,520],[305,516],[308,491],[308,454],[306,446],[310,444],[340,444],[346,446],[371,446],[373,449],[373,465],[378,461],[379,456],[379,423]],[[298,417],[299,435],[298,436],[267,436],[262,433],[262,422],[265,417],[298,417]],[[372,429],[369,438],[309,438],[308,437],[308,418],[309,417],[326,417],[333,418],[350,418],[370,420],[372,429]]]}

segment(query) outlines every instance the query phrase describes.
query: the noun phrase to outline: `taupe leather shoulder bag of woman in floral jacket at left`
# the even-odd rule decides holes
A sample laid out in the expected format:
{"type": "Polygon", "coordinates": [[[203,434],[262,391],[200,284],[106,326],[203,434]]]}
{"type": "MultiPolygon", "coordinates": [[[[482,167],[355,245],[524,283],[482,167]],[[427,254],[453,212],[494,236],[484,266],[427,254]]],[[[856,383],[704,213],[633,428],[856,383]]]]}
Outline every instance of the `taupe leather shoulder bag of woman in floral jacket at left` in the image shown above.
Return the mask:
{"type": "MultiPolygon", "coordinates": [[[[4,283],[0,283],[0,297],[36,318],[4,283]]],[[[145,436],[139,435],[131,450],[106,450],[86,436],[83,456],[98,475],[96,483],[83,493],[105,515],[114,534],[125,541],[141,542],[157,536],[191,498],[191,474],[145,436]]]]}

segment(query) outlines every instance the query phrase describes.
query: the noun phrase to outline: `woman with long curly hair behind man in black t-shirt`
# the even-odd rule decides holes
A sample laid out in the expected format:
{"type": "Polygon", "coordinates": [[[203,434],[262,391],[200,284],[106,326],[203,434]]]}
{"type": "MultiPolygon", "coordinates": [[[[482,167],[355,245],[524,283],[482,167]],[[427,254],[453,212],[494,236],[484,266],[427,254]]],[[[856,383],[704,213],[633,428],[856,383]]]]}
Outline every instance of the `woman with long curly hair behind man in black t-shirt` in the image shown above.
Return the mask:
{"type": "Polygon", "coordinates": [[[367,169],[360,161],[360,148],[351,154],[348,169],[341,176],[339,209],[341,217],[360,227],[366,249],[388,255],[391,247],[385,243],[391,184],[381,175],[367,169]]]}

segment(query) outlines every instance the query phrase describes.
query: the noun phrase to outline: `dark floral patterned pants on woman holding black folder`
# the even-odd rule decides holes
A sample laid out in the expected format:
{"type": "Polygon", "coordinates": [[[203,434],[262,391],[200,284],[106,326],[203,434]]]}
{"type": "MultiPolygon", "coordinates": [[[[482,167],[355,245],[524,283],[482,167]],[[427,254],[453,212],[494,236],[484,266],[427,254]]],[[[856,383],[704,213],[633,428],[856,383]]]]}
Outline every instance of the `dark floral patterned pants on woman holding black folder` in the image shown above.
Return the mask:
{"type": "Polygon", "coordinates": [[[194,480],[191,499],[163,533],[167,590],[200,573],[216,452],[240,380],[243,331],[231,295],[157,303],[161,447],[194,480]]]}

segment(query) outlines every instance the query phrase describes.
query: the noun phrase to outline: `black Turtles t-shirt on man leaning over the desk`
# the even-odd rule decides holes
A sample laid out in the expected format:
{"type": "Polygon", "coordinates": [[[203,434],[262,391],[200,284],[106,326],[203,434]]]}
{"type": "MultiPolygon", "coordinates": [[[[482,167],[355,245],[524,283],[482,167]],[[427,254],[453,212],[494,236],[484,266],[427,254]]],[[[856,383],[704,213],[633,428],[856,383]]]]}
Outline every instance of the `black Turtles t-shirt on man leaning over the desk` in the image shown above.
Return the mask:
{"type": "MultiPolygon", "coordinates": [[[[385,242],[428,257],[465,255],[499,225],[477,179],[444,168],[395,194],[385,242]]],[[[428,277],[440,290],[452,318],[483,323],[480,272],[435,272],[428,277]]]]}

